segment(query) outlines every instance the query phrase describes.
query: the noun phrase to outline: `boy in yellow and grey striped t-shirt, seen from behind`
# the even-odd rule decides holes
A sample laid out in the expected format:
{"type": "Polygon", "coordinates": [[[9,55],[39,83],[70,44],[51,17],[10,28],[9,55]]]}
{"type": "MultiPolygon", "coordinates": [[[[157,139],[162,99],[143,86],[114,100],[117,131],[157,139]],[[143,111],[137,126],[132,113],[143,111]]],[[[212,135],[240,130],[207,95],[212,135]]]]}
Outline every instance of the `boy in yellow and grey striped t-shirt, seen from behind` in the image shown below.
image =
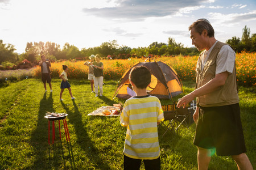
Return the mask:
{"type": "Polygon", "coordinates": [[[136,96],[126,100],[120,116],[127,126],[123,169],[139,169],[143,160],[146,169],[160,169],[158,125],[164,120],[160,101],[147,94],[151,73],[144,66],[134,67],[129,75],[136,96]]]}

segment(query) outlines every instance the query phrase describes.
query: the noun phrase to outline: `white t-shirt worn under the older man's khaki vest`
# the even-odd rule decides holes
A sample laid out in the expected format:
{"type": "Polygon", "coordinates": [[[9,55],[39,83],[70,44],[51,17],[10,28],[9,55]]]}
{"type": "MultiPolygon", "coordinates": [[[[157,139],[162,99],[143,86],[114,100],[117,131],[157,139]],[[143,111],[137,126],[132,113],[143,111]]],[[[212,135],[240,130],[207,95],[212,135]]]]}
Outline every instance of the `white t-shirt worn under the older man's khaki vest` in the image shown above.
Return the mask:
{"type": "MultiPolygon", "coordinates": [[[[217,41],[216,41],[217,42],[217,41]]],[[[213,46],[207,51],[204,50],[204,56],[202,61],[202,70],[204,69],[205,63],[207,59],[209,58],[210,52],[212,52],[213,47],[215,46],[216,42],[213,44],[213,46]]],[[[233,73],[234,68],[234,62],[236,59],[236,53],[229,45],[222,46],[220,52],[218,53],[217,59],[216,59],[216,71],[215,74],[224,73],[225,71],[228,71],[228,73],[233,73]]]]}

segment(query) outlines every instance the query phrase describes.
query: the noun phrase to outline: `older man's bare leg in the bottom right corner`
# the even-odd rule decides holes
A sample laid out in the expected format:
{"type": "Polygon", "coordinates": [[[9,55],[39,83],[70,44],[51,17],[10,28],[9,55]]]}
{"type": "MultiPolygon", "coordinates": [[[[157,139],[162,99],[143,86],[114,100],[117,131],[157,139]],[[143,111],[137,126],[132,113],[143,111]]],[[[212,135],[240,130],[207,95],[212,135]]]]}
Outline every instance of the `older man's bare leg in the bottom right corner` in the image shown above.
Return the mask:
{"type": "Polygon", "coordinates": [[[237,168],[239,170],[253,170],[253,165],[251,165],[251,162],[245,153],[232,155],[232,158],[237,163],[237,168]]]}

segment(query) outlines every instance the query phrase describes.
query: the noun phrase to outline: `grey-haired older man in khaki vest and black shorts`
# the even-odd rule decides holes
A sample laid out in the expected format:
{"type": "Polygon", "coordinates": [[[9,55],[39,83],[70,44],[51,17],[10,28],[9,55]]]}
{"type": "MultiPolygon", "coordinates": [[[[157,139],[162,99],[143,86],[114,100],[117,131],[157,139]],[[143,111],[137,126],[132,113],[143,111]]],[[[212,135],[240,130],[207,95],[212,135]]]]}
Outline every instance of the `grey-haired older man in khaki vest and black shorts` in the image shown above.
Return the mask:
{"type": "Polygon", "coordinates": [[[196,66],[196,90],[182,97],[177,107],[197,100],[193,119],[196,134],[197,164],[208,169],[211,155],[232,156],[238,169],[253,169],[245,154],[245,140],[240,118],[236,83],[236,53],[228,44],[214,38],[207,19],[199,19],[190,27],[192,44],[201,52],[196,66]]]}

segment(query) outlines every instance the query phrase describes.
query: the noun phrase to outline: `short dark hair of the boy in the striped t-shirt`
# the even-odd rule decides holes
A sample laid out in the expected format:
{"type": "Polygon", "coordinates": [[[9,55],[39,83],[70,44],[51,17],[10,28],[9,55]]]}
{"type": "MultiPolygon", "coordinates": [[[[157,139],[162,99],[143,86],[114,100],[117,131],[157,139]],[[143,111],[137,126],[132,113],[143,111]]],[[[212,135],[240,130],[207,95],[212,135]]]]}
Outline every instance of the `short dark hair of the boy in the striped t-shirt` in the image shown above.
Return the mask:
{"type": "Polygon", "coordinates": [[[131,69],[129,79],[137,88],[147,88],[151,82],[151,73],[145,66],[136,66],[131,69]]]}

